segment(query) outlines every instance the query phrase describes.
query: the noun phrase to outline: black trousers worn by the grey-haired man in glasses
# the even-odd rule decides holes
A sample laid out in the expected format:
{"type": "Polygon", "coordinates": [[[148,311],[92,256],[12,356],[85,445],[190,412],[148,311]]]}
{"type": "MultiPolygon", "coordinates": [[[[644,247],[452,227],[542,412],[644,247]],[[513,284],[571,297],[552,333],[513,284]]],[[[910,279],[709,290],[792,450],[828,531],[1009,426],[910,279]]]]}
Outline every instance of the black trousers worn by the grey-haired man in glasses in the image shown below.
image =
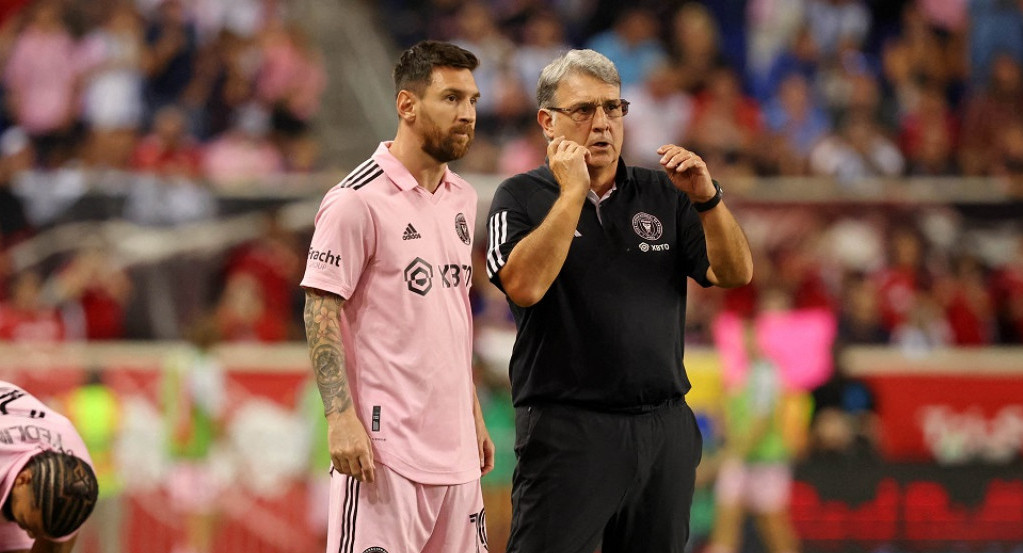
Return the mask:
{"type": "Polygon", "coordinates": [[[684,403],[516,409],[508,553],[682,553],[702,447],[684,403]]]}

